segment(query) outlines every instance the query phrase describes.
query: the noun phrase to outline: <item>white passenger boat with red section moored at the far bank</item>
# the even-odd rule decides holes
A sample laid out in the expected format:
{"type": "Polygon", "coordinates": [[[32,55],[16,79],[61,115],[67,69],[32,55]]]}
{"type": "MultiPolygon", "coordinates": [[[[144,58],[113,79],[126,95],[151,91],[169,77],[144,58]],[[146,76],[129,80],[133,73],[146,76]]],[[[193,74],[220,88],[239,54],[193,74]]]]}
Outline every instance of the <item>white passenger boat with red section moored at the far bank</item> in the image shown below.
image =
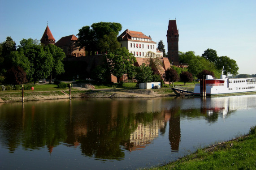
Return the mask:
{"type": "MultiPolygon", "coordinates": [[[[256,77],[253,78],[229,78],[223,75],[220,79],[207,75],[205,80],[206,96],[228,96],[256,93],[256,77]]],[[[200,96],[200,83],[195,84],[194,96],[200,96]]]]}

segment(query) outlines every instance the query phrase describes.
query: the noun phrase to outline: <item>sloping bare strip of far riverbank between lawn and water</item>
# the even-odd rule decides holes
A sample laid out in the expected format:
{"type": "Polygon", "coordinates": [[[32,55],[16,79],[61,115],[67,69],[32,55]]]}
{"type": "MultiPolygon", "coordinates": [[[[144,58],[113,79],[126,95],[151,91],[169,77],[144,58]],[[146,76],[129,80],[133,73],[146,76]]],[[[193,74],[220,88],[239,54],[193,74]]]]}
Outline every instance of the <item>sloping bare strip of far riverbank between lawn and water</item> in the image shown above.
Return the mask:
{"type": "MultiPolygon", "coordinates": [[[[71,98],[157,98],[176,96],[174,93],[157,93],[152,89],[90,89],[72,90],[71,98]]],[[[68,90],[24,92],[24,102],[69,98],[68,90]]],[[[0,93],[0,103],[22,102],[22,93],[0,93]]]]}

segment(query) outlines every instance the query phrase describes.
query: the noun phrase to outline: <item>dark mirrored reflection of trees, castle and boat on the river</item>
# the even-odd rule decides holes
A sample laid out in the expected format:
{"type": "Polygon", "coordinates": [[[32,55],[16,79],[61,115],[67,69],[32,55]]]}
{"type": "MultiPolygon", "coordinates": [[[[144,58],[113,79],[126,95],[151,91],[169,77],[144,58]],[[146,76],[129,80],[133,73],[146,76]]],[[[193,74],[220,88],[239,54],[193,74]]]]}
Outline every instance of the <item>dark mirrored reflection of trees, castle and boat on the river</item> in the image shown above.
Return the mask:
{"type": "Polygon", "coordinates": [[[0,104],[0,143],[9,153],[22,146],[51,154],[63,144],[79,148],[86,157],[122,160],[126,152],[143,150],[167,133],[169,148],[177,153],[182,119],[214,123],[251,106],[255,107],[255,100],[250,97],[4,103],[0,104]]]}

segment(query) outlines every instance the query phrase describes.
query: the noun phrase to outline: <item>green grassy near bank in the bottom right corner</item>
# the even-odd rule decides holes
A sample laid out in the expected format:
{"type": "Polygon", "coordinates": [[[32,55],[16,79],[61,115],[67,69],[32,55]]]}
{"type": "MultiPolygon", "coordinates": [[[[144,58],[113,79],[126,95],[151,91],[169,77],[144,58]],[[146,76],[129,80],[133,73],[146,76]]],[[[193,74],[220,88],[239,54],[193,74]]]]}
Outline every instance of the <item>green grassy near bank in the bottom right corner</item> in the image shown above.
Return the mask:
{"type": "Polygon", "coordinates": [[[214,144],[151,170],[256,170],[256,126],[248,135],[214,144]]]}

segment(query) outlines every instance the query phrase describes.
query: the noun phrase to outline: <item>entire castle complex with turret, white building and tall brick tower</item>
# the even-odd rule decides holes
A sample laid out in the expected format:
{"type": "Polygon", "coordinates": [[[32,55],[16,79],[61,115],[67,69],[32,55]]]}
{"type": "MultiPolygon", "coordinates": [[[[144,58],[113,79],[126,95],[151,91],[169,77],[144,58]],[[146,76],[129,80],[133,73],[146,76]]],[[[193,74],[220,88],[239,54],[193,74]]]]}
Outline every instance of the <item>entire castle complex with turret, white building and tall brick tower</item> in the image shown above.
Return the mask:
{"type": "MultiPolygon", "coordinates": [[[[162,62],[162,66],[158,68],[155,73],[162,76],[165,73],[165,70],[171,66],[169,61],[171,61],[174,65],[178,65],[179,34],[176,20],[169,20],[166,36],[168,42],[168,58],[163,57],[163,52],[157,49],[156,42],[152,41],[150,36],[146,36],[142,32],[127,29],[117,37],[117,40],[119,43],[121,43],[121,47],[126,47],[126,49],[135,55],[137,62],[134,65],[136,67],[140,67],[143,63],[147,64],[145,61],[145,56],[147,52],[152,51],[154,54],[153,57],[159,57],[162,62]]],[[[65,61],[84,62],[85,64],[83,69],[85,69],[87,76],[90,77],[93,69],[97,65],[103,64],[103,55],[86,56],[85,49],[80,49],[76,46],[77,39],[78,38],[75,35],[69,35],[62,37],[55,43],[56,40],[53,37],[51,30],[47,26],[40,41],[44,45],[55,44],[57,47],[60,47],[65,52],[65,61]]],[[[79,74],[81,74],[81,72],[79,74]]],[[[78,75],[78,73],[74,73],[74,75],[78,75]]],[[[123,76],[120,81],[124,81],[125,78],[127,79],[127,76],[123,76]]],[[[117,77],[111,75],[109,77],[109,81],[116,83],[117,77]]]]}

